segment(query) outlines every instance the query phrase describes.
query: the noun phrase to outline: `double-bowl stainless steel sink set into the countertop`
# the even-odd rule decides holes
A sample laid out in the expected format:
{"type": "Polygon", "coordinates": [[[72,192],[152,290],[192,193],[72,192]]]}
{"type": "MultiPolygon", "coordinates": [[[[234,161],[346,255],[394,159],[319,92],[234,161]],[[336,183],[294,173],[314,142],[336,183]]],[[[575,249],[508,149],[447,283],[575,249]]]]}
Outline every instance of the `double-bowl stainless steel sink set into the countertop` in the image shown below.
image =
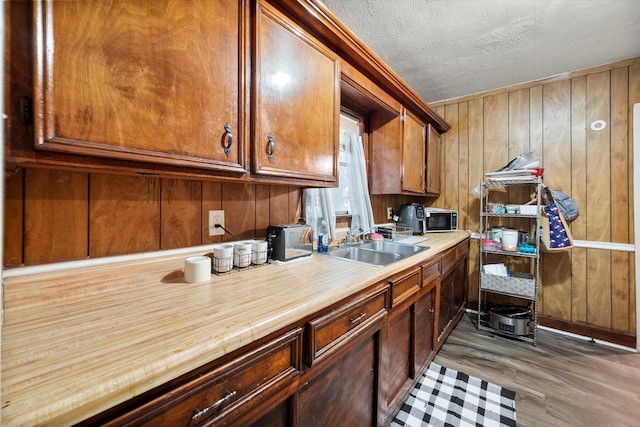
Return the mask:
{"type": "Polygon", "coordinates": [[[383,267],[427,249],[429,248],[426,246],[407,243],[365,241],[329,248],[326,255],[346,261],[383,267]]]}

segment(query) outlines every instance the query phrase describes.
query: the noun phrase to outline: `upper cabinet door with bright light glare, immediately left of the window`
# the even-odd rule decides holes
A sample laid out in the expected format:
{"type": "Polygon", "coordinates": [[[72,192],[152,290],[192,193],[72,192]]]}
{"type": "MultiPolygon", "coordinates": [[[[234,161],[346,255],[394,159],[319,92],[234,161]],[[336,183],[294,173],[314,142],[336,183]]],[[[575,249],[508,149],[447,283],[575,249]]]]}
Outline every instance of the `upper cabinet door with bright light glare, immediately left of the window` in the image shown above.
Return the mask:
{"type": "Polygon", "coordinates": [[[337,185],[338,58],[271,6],[257,7],[254,172],[337,185]]]}

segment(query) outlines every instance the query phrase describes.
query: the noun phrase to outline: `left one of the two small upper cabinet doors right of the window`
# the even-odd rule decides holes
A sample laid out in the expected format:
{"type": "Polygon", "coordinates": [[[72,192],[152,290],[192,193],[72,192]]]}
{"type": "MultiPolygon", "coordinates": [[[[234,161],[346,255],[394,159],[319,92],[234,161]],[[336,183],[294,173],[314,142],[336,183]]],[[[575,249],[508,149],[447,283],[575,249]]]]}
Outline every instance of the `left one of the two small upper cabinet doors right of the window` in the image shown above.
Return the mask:
{"type": "Polygon", "coordinates": [[[409,112],[404,115],[402,190],[424,193],[426,126],[409,112]]]}

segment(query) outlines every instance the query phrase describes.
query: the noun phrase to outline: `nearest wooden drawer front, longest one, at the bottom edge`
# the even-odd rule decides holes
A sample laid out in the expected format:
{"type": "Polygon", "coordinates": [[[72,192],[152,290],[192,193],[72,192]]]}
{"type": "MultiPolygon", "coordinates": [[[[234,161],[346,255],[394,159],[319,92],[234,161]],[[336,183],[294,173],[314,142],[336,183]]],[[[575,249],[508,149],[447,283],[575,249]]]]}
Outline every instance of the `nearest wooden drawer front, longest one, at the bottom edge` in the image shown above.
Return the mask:
{"type": "Polygon", "coordinates": [[[193,426],[232,421],[266,402],[299,374],[301,329],[241,355],[135,409],[115,425],[193,426]]]}

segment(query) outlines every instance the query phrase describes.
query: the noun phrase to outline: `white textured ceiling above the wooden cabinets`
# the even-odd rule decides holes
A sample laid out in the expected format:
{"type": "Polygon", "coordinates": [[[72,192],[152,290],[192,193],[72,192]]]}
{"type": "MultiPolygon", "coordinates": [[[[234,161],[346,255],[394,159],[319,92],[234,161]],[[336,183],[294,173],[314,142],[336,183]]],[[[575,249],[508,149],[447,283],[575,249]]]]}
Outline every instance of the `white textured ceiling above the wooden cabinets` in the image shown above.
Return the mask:
{"type": "Polygon", "coordinates": [[[639,0],[320,0],[425,101],[640,56],[639,0]]]}

